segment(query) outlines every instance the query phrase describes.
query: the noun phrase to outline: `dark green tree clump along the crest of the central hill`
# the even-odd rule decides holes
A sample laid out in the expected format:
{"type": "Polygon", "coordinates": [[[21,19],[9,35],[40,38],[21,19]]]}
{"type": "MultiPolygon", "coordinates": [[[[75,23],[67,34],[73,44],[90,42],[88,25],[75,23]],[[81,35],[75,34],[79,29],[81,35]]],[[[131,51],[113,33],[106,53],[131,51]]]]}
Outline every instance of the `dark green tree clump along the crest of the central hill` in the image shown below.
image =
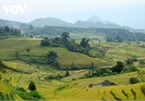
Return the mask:
{"type": "Polygon", "coordinates": [[[89,55],[90,45],[89,39],[85,37],[82,38],[80,43],[77,43],[74,39],[70,40],[70,36],[68,32],[63,32],[61,37],[55,37],[48,39],[45,37],[41,40],[41,46],[54,46],[54,47],[66,47],[70,51],[80,52],[89,55]]]}

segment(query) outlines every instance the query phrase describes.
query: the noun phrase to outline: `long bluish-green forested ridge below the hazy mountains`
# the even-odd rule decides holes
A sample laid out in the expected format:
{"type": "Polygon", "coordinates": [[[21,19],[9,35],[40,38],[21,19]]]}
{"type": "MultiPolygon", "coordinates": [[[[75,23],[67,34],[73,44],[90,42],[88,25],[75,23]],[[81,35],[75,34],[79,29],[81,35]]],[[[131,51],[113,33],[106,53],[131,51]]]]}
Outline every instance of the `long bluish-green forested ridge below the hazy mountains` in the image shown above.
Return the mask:
{"type": "Polygon", "coordinates": [[[117,36],[124,40],[137,40],[145,41],[144,33],[130,32],[126,29],[118,28],[74,28],[74,27],[58,27],[58,26],[45,26],[43,28],[33,28],[26,32],[26,35],[34,36],[60,36],[63,32],[69,32],[70,34],[81,35],[95,35],[98,37],[106,37],[115,39],[117,36]]]}

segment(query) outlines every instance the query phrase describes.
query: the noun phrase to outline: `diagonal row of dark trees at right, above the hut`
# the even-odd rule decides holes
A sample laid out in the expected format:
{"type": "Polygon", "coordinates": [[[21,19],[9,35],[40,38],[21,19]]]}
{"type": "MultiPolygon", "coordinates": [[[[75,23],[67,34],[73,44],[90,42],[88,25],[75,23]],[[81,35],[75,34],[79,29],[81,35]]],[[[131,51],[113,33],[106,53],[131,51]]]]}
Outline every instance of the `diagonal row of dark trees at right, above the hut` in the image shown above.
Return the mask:
{"type": "Polygon", "coordinates": [[[100,77],[100,76],[108,76],[108,75],[116,75],[120,73],[139,71],[136,66],[134,66],[134,62],[138,61],[139,66],[143,67],[145,62],[143,60],[137,60],[135,56],[131,58],[127,58],[125,62],[117,61],[116,65],[113,67],[99,68],[92,64],[91,69],[85,74],[82,78],[91,78],[91,77],[100,77]]]}

